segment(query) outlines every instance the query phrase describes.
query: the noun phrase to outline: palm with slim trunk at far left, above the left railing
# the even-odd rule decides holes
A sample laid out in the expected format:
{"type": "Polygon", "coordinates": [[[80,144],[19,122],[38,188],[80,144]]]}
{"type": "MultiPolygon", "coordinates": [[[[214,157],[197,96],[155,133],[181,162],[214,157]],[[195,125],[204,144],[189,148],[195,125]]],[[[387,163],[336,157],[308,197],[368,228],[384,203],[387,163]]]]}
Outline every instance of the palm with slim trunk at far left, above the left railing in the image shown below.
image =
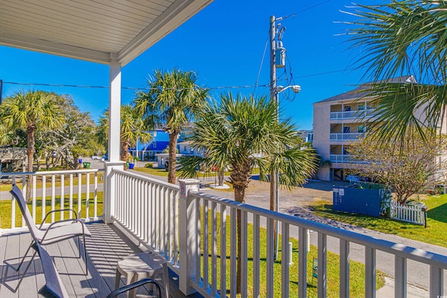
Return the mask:
{"type": "Polygon", "coordinates": [[[3,101],[0,109],[1,122],[6,128],[27,131],[28,171],[32,172],[36,129],[52,129],[63,123],[57,95],[45,91],[17,91],[3,101]]]}

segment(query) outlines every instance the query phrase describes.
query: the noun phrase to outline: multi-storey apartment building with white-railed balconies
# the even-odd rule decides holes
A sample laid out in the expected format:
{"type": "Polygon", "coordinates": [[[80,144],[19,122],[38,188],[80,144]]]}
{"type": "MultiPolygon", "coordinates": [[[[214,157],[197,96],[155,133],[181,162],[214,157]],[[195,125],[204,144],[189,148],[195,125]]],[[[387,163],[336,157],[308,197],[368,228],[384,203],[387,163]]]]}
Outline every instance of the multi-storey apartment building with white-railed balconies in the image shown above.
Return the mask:
{"type": "MultiPolygon", "coordinates": [[[[397,77],[390,82],[416,83],[413,76],[397,77]]],[[[367,131],[365,122],[376,117],[371,97],[365,94],[367,84],[314,103],[313,146],[321,155],[322,166],[317,177],[323,181],[345,180],[346,169],[353,167],[349,144],[367,131]],[[330,161],[328,163],[327,161],[330,161]]],[[[420,110],[419,117],[423,117],[420,110]]]]}

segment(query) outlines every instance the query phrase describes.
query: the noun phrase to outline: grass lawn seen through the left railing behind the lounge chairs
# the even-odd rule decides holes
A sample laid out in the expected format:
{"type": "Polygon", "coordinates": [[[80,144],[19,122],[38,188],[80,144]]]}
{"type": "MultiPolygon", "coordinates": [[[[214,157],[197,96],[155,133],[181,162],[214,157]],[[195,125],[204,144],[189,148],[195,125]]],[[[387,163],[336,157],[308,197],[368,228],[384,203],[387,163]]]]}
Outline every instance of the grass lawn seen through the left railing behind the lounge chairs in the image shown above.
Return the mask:
{"type": "MultiPolygon", "coordinates": [[[[45,213],[51,210],[51,196],[47,196],[45,197],[45,213]]],[[[86,198],[87,195],[85,193],[82,194],[81,196],[81,215],[82,216],[78,216],[78,217],[85,217],[85,209],[87,206],[87,202],[86,202],[86,198]]],[[[54,200],[54,205],[55,205],[55,209],[61,209],[61,197],[57,196],[54,200]]],[[[99,192],[98,191],[98,199],[97,199],[97,215],[101,216],[103,214],[103,192],[99,192]]],[[[29,206],[29,210],[32,212],[32,204],[28,204],[29,206]]],[[[69,196],[68,195],[64,195],[64,208],[68,208],[69,206],[69,196]]],[[[0,201],[0,227],[2,229],[7,229],[10,228],[11,225],[11,201],[10,200],[5,200],[5,201],[0,201]]],[[[78,194],[73,194],[73,209],[78,212],[78,194]]],[[[89,196],[89,217],[93,217],[94,216],[94,193],[90,193],[89,196]]],[[[64,212],[64,218],[69,218],[69,212],[65,211],[64,212]]],[[[55,219],[59,220],[60,219],[60,213],[55,213],[55,219]]],[[[41,198],[37,198],[36,200],[36,223],[40,224],[41,221],[43,220],[42,218],[42,201],[41,198]]],[[[51,216],[48,216],[47,218],[47,223],[51,222],[51,216]]],[[[15,206],[15,226],[16,227],[21,227],[22,226],[22,214],[20,212],[19,206],[17,205],[16,202],[16,206],[15,206]]]]}

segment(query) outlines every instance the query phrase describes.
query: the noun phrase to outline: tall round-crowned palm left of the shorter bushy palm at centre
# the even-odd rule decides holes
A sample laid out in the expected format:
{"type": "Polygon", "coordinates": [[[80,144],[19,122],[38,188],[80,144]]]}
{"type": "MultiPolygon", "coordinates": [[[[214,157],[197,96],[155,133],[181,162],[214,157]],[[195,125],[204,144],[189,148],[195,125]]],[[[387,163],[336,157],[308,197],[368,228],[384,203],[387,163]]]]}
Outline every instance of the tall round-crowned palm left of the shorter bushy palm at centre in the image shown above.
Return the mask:
{"type": "Polygon", "coordinates": [[[192,71],[174,69],[172,72],[155,70],[149,77],[149,91],[138,91],[133,100],[145,122],[154,128],[165,124],[169,133],[168,182],[175,184],[177,137],[182,128],[193,120],[206,102],[206,89],[196,84],[197,75],[192,71]]]}

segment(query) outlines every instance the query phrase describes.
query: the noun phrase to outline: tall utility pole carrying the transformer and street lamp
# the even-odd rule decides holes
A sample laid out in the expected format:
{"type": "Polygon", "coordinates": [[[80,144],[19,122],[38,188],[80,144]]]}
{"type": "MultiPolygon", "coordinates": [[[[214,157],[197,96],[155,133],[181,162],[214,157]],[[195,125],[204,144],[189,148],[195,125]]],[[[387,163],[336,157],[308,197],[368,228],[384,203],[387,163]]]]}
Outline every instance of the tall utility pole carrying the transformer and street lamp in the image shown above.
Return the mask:
{"type": "MultiPolygon", "coordinates": [[[[276,19],[274,15],[270,17],[270,100],[278,104],[277,96],[277,69],[275,66],[275,50],[276,50],[276,19]]],[[[277,112],[277,121],[279,115],[277,112]]],[[[272,169],[270,172],[270,210],[279,211],[278,208],[279,191],[278,191],[278,171],[272,169]]],[[[278,223],[274,222],[274,260],[278,258],[278,223]]]]}

